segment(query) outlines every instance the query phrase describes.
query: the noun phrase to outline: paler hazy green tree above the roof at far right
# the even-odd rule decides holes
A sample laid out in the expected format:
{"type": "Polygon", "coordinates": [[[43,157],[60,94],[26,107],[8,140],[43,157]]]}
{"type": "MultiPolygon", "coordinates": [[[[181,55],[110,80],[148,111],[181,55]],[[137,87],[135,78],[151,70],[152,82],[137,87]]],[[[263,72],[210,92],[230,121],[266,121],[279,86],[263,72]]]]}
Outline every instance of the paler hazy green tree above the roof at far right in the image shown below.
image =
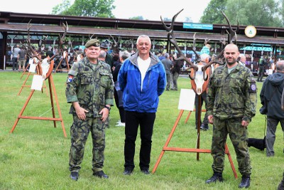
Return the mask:
{"type": "Polygon", "coordinates": [[[277,0],[227,0],[225,14],[231,24],[236,24],[238,19],[244,26],[280,27],[278,6],[277,0]]]}

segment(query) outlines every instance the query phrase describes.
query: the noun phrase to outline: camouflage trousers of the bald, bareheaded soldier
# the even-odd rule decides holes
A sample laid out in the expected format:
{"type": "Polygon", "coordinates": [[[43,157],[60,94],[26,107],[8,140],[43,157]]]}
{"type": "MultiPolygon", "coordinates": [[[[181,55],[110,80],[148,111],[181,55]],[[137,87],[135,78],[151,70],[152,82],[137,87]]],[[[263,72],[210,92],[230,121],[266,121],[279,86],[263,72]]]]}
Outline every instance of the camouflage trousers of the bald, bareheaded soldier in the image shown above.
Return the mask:
{"type": "Polygon", "coordinates": [[[231,143],[236,152],[236,160],[241,175],[251,174],[251,160],[249,158],[248,139],[249,133],[246,127],[241,125],[241,118],[220,120],[213,118],[213,136],[211,154],[213,157],[212,169],[222,173],[224,170],[224,154],[226,138],[229,134],[231,143]]]}

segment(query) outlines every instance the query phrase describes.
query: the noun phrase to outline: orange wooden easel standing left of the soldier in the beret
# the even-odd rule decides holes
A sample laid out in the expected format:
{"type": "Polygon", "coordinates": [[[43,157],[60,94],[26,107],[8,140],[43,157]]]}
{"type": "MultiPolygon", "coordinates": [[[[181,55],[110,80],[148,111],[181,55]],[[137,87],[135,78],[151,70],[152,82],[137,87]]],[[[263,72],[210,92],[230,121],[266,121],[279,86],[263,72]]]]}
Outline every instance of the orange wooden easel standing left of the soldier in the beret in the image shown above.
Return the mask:
{"type": "MultiPolygon", "coordinates": [[[[51,63],[50,63],[50,69],[51,71],[53,70],[53,64],[54,64],[54,61],[52,60],[51,63]]],[[[62,127],[62,130],[63,130],[63,134],[64,134],[64,137],[67,137],[67,134],[65,132],[65,127],[64,127],[64,123],[63,123],[63,120],[62,120],[62,115],[61,115],[61,111],[60,111],[60,107],[59,107],[59,102],[58,102],[58,95],[56,93],[56,90],[55,90],[55,85],[54,85],[54,82],[53,82],[53,75],[51,74],[51,71],[50,71],[50,75],[48,77],[48,85],[49,85],[49,92],[50,92],[50,103],[51,103],[51,107],[52,107],[52,111],[53,111],[53,117],[33,117],[33,116],[23,116],[23,112],[24,110],[26,109],[27,105],[28,105],[28,102],[31,100],[31,97],[33,96],[33,93],[35,92],[35,90],[31,90],[31,93],[30,95],[28,96],[28,99],[26,100],[25,104],[23,105],[23,108],[21,110],[21,112],[19,113],[18,115],[18,118],[16,119],[12,129],[11,129],[11,133],[13,132],[13,130],[15,130],[16,128],[16,125],[18,124],[18,121],[20,119],[28,119],[28,120],[50,120],[50,121],[53,121],[53,125],[54,127],[56,127],[56,122],[61,122],[61,127],[62,127]],[[55,107],[54,107],[54,102],[53,102],[53,93],[54,93],[54,96],[55,96],[55,102],[56,102],[56,105],[58,107],[58,115],[59,115],[59,118],[55,118],[55,107]]]]}

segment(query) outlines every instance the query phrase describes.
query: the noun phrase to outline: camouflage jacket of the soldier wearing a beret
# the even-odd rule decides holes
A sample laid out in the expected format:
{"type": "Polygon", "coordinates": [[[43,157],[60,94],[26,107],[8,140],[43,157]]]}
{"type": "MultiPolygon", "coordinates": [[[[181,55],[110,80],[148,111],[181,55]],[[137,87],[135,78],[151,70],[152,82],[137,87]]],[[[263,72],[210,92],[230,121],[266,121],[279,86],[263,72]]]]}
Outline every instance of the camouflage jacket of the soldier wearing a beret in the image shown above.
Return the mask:
{"type": "MultiPolygon", "coordinates": [[[[79,102],[89,112],[87,117],[101,117],[105,105],[114,105],[114,81],[107,63],[98,60],[90,63],[87,58],[72,65],[68,73],[65,91],[67,102],[79,102]]],[[[70,114],[76,114],[71,105],[70,114]]]]}

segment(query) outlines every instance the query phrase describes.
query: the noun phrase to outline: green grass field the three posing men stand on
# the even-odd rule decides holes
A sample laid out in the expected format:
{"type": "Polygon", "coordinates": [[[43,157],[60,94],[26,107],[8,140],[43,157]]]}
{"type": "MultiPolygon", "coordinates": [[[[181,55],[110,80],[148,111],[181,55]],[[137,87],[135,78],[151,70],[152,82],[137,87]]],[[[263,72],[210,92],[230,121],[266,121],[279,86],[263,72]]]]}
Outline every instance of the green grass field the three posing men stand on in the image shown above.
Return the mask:
{"type": "MultiPolygon", "coordinates": [[[[29,88],[23,88],[17,95],[27,75],[20,80],[21,73],[0,73],[0,189],[238,189],[241,175],[236,163],[236,155],[228,137],[228,146],[239,179],[225,160],[224,183],[204,184],[212,176],[212,156],[200,154],[197,161],[196,153],[165,152],[155,174],[141,174],[138,168],[140,139],[136,141],[136,168],[131,176],[124,176],[124,127],[115,127],[119,120],[119,112],[112,107],[110,127],[106,132],[106,149],[104,171],[109,179],[98,179],[92,176],[92,141],[89,137],[84,152],[84,160],[80,171],[80,179],[69,178],[68,154],[70,149],[70,125],[72,117],[68,114],[70,105],[65,99],[66,73],[53,75],[56,92],[67,132],[63,136],[60,122],[56,128],[52,121],[21,119],[13,133],[10,133],[28,95],[29,88]]],[[[32,77],[27,85],[31,85],[32,77]]],[[[46,83],[48,85],[48,83],[46,83]]],[[[262,83],[258,86],[258,107],[261,107],[259,93],[262,83]]],[[[160,96],[157,117],[153,132],[153,146],[150,169],[153,169],[168,135],[178,117],[180,88],[190,88],[189,78],[179,78],[178,91],[165,91],[160,96]]],[[[23,115],[52,117],[50,97],[46,93],[35,91],[23,115]]],[[[55,107],[56,108],[56,107],[55,107]]],[[[55,110],[58,117],[58,112],[55,110]]],[[[197,130],[195,130],[195,113],[185,124],[187,111],[182,115],[179,125],[173,134],[169,147],[195,148],[197,130]]],[[[204,113],[202,113],[202,118],[204,113]]],[[[263,138],[265,117],[257,112],[249,125],[249,135],[263,138]]],[[[200,147],[210,149],[212,125],[208,131],[200,134],[200,147]]],[[[277,189],[283,174],[283,132],[278,126],[275,140],[275,157],[266,157],[253,147],[249,148],[253,167],[250,189],[277,189]]]]}

